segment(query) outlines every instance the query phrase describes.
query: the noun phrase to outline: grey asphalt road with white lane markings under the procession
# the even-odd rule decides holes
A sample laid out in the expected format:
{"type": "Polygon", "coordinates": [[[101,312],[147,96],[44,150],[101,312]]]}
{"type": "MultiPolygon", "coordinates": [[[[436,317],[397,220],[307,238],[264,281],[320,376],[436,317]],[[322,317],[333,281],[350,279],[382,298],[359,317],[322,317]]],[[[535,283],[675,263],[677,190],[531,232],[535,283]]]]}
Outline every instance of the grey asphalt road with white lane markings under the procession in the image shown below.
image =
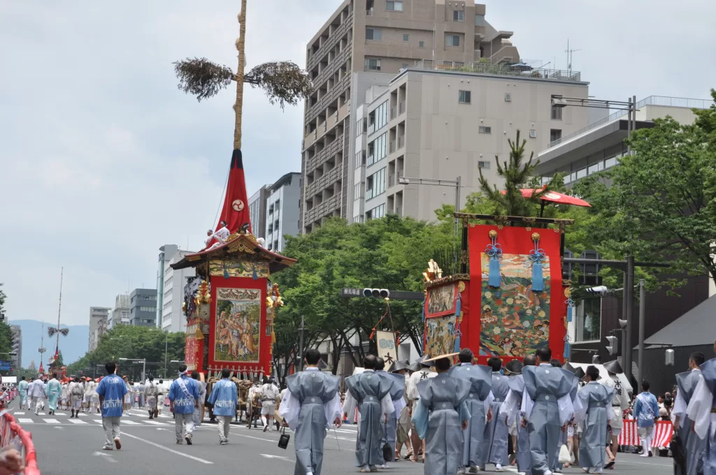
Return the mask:
{"type": "MultiPolygon", "coordinates": [[[[122,449],[102,451],[104,432],[97,415],[70,419],[69,413],[35,416],[31,411],[11,410],[24,429],[32,432],[37,462],[47,475],[126,475],[140,474],[252,474],[294,473],[293,444],[289,449],[277,446],[279,434],[232,426],[229,444],[218,444],[215,424],[204,423],[195,431],[192,446],[175,444],[174,421],[163,414],[148,421],[147,413],[130,411],[122,418],[122,449]],[[150,423],[153,422],[153,423],[150,423]]],[[[353,474],[356,439],[355,426],[342,426],[326,438],[324,474],[353,474]]],[[[493,467],[488,466],[488,472],[493,467]]],[[[508,469],[515,471],[513,467],[508,469]]],[[[386,474],[422,474],[422,464],[400,461],[381,470],[386,474]]],[[[666,458],[639,458],[619,454],[610,474],[670,475],[672,461],[666,458]]],[[[564,474],[583,474],[581,469],[566,469],[564,474]]]]}

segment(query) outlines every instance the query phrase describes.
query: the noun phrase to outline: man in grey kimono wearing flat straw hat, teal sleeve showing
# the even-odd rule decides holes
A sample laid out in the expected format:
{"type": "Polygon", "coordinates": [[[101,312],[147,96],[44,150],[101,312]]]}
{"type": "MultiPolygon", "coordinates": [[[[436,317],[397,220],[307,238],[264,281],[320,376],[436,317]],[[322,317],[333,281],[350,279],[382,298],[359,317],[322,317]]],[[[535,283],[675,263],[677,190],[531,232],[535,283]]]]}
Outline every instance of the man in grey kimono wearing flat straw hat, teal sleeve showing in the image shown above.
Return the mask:
{"type": "Polygon", "coordinates": [[[470,421],[466,403],[470,381],[448,374],[452,355],[431,358],[437,376],[417,383],[420,399],[412,421],[420,439],[425,440],[425,475],[454,475],[463,454],[463,431],[470,421]]]}

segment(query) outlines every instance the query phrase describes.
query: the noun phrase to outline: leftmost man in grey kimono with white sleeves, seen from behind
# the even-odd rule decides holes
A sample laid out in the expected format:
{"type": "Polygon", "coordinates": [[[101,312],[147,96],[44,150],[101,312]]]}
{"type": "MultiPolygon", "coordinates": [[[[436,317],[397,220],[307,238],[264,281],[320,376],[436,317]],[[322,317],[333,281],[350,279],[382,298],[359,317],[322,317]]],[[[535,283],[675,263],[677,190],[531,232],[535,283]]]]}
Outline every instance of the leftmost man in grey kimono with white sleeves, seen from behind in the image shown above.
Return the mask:
{"type": "Polygon", "coordinates": [[[294,435],[296,466],[294,475],[321,475],[326,429],[342,422],[340,378],[321,373],[321,353],[312,348],[304,357],[306,369],[286,378],[287,391],[281,400],[279,416],[294,435]]]}

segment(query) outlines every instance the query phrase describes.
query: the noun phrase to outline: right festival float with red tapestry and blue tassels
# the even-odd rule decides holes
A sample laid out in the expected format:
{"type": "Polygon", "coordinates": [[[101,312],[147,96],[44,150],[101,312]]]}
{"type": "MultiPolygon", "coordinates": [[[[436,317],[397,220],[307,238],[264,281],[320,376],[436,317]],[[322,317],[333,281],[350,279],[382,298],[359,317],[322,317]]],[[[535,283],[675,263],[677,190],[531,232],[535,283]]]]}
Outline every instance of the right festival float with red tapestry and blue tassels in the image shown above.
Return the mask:
{"type": "Polygon", "coordinates": [[[564,230],[574,221],[455,217],[462,223],[460,273],[443,276],[431,260],[424,274],[424,353],[470,348],[480,364],[495,356],[505,364],[549,346],[566,361],[574,303],[562,279],[564,230]]]}

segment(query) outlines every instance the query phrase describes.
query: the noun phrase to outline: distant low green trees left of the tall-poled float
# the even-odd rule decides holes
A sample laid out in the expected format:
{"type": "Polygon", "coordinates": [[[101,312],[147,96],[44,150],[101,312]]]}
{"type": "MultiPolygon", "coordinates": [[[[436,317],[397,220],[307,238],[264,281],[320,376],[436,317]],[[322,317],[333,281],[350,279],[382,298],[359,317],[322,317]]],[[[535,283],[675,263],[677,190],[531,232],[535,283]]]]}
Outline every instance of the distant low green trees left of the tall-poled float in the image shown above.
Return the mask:
{"type": "Polygon", "coordinates": [[[145,358],[147,360],[147,376],[163,376],[165,361],[167,374],[170,371],[169,362],[184,360],[185,333],[165,333],[156,327],[142,327],[134,325],[117,325],[108,330],[95,351],[85,353],[82,358],[67,366],[67,374],[79,374],[79,371],[97,371],[97,376],[104,374],[105,363],[116,361],[119,363],[122,374],[131,373],[137,376],[142,365],[131,368],[132,363],[120,362],[119,358],[145,358]],[[165,343],[167,353],[165,354],[165,343]],[[132,371],[133,370],[133,371],[132,371]]]}

